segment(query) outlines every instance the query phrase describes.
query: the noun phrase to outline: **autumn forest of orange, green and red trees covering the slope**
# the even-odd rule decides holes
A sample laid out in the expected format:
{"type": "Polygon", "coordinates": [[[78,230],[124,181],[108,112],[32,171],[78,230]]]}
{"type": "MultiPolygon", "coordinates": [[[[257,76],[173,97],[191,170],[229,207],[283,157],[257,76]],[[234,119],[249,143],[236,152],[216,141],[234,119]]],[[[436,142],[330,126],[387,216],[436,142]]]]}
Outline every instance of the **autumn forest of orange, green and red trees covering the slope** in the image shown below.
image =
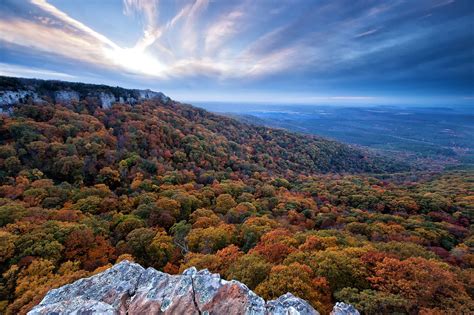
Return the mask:
{"type": "Polygon", "coordinates": [[[472,313],[473,183],[172,100],[25,102],[0,116],[0,313],[124,259],[321,314],[472,313]]]}

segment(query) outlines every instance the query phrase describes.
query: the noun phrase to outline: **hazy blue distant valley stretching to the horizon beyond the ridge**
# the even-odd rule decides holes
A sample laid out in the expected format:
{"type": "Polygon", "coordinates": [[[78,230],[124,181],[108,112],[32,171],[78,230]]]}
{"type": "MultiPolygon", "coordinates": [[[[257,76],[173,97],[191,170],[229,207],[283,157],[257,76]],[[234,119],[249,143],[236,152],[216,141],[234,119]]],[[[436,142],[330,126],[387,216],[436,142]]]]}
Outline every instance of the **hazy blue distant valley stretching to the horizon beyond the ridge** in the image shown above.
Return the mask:
{"type": "Polygon", "coordinates": [[[248,123],[321,135],[408,157],[420,165],[466,167],[474,162],[474,111],[467,106],[197,105],[248,123]]]}

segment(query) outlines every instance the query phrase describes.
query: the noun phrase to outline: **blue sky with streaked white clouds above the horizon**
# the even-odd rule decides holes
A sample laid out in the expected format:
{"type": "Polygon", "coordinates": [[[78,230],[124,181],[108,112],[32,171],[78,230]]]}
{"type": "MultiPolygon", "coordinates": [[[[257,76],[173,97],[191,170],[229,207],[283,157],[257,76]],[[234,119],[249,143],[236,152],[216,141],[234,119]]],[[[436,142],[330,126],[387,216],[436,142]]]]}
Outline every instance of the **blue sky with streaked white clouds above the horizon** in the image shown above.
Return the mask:
{"type": "Polygon", "coordinates": [[[188,102],[474,103],[471,0],[0,0],[0,74],[188,102]]]}

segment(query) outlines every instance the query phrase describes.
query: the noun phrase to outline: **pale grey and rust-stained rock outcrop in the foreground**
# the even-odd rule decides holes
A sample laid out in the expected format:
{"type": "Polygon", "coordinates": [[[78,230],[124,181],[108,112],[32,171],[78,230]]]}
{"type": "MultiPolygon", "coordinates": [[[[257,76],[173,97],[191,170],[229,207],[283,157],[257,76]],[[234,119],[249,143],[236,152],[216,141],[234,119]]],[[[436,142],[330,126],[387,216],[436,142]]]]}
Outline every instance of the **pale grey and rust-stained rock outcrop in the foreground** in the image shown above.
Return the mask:
{"type": "MultiPolygon", "coordinates": [[[[122,261],[86,279],[51,290],[29,314],[319,314],[290,293],[265,302],[238,281],[189,268],[169,275],[122,261]]],[[[358,314],[338,303],[334,314],[358,314]],[[352,313],[351,313],[352,312],[352,313]]]]}

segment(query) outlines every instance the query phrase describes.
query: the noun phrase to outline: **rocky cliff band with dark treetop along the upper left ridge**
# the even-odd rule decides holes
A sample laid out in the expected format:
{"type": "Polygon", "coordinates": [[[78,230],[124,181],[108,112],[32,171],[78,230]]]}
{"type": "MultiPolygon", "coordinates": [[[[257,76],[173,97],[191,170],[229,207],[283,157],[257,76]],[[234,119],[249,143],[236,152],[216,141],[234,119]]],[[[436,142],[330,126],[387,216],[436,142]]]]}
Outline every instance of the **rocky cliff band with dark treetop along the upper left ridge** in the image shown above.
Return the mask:
{"type": "Polygon", "coordinates": [[[3,109],[28,102],[42,103],[45,100],[53,100],[55,103],[71,103],[86,98],[95,99],[103,108],[114,103],[133,105],[147,99],[159,99],[164,103],[169,100],[163,93],[151,90],[0,76],[0,108],[3,109]]]}

